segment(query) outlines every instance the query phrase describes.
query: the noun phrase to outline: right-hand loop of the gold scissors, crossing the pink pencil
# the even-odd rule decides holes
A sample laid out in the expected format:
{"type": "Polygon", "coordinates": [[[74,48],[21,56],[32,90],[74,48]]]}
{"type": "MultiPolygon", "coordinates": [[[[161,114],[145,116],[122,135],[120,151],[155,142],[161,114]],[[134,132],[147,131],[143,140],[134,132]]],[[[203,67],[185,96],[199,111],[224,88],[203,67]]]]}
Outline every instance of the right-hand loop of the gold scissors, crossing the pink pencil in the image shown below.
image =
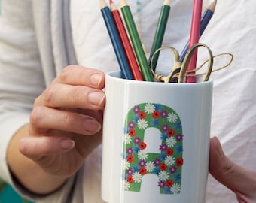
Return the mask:
{"type": "Polygon", "coordinates": [[[213,66],[212,50],[206,44],[197,43],[197,44],[194,44],[192,47],[190,47],[190,49],[187,51],[186,56],[184,57],[184,61],[181,64],[181,71],[178,76],[178,83],[183,83],[184,77],[187,72],[187,66],[190,63],[190,59],[192,58],[195,50],[197,50],[199,47],[206,47],[206,50],[208,50],[208,53],[209,53],[208,68],[205,74],[206,76],[203,78],[203,82],[209,80],[210,74],[212,73],[212,66],[213,66]]]}

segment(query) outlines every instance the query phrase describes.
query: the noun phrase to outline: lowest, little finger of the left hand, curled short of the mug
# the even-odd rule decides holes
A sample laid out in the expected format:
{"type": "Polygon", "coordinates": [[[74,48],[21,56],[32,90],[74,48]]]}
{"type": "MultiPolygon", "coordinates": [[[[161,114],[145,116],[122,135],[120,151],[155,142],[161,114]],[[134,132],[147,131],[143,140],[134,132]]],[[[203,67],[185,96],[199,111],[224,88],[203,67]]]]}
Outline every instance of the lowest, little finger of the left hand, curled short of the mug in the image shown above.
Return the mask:
{"type": "Polygon", "coordinates": [[[66,153],[75,147],[75,141],[60,137],[25,137],[20,139],[19,150],[24,156],[37,160],[43,156],[66,153]]]}

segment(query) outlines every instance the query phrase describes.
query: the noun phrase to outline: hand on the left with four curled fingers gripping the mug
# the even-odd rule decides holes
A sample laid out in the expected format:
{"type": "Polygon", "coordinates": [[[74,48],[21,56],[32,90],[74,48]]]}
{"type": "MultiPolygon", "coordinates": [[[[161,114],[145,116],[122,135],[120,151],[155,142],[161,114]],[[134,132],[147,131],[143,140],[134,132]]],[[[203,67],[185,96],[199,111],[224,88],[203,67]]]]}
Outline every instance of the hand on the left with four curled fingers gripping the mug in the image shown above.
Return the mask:
{"type": "Polygon", "coordinates": [[[20,153],[47,174],[70,177],[102,141],[105,74],[72,65],[35,100],[20,153]]]}

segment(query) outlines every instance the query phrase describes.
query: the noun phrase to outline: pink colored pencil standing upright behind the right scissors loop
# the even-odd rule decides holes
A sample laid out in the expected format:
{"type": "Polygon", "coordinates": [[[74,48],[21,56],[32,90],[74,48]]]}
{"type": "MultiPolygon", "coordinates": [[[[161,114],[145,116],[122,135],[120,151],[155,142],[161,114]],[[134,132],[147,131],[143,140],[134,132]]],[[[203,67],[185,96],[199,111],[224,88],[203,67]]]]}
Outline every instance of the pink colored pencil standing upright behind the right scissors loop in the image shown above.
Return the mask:
{"type": "MultiPolygon", "coordinates": [[[[203,6],[203,0],[194,0],[191,28],[190,28],[189,47],[192,47],[194,44],[198,43],[199,41],[202,6],[203,6]]],[[[190,60],[190,63],[187,66],[187,71],[194,70],[196,66],[197,66],[197,50],[194,52],[190,60]]],[[[192,72],[191,74],[194,74],[194,72],[192,72]]],[[[186,77],[186,83],[194,83],[194,82],[196,82],[196,77],[194,76],[186,77]]]]}

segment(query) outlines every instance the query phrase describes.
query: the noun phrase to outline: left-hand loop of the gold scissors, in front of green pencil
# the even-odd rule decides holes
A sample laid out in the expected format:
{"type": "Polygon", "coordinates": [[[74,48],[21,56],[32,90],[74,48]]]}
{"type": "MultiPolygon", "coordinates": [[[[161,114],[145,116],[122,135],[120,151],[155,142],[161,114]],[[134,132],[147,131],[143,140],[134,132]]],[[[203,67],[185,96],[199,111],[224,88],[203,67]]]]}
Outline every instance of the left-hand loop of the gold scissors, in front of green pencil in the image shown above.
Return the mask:
{"type": "Polygon", "coordinates": [[[179,69],[181,68],[181,62],[179,61],[179,54],[178,50],[176,50],[174,47],[160,47],[158,48],[154,54],[151,57],[151,72],[154,75],[155,79],[158,82],[163,82],[163,83],[169,83],[172,77],[179,72],[179,69]],[[172,70],[167,76],[163,76],[163,74],[156,74],[154,69],[153,69],[153,61],[154,61],[154,56],[159,54],[161,50],[170,50],[172,52],[173,56],[173,65],[172,65],[172,70]]]}

